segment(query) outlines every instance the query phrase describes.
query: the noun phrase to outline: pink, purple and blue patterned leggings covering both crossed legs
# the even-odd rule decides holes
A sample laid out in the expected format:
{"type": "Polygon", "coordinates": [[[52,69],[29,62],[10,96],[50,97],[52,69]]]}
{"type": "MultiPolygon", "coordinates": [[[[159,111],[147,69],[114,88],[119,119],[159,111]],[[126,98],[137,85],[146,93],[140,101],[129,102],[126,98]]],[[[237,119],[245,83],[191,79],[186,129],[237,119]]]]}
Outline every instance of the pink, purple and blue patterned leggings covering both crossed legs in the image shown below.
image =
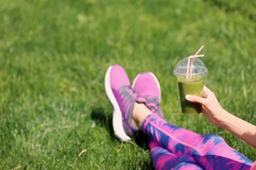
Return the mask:
{"type": "Polygon", "coordinates": [[[155,169],[250,169],[253,162],[217,135],[198,135],[150,114],[142,124],[155,169]]]}

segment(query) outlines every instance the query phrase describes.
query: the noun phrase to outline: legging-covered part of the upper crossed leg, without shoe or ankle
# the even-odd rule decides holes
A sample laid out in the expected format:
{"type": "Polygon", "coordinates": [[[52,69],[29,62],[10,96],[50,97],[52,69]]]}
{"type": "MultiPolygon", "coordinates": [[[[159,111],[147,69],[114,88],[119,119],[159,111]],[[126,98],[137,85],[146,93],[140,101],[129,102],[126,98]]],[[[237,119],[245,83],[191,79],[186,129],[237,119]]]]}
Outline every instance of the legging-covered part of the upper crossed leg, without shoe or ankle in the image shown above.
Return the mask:
{"type": "MultiPolygon", "coordinates": [[[[240,152],[228,146],[223,138],[217,135],[198,135],[187,129],[173,126],[156,114],[148,114],[141,127],[142,131],[159,146],[178,158],[193,157],[203,169],[250,169],[253,164],[240,152]]],[[[162,155],[170,155],[163,153],[162,155]]],[[[154,157],[157,158],[155,155],[154,157]]]]}

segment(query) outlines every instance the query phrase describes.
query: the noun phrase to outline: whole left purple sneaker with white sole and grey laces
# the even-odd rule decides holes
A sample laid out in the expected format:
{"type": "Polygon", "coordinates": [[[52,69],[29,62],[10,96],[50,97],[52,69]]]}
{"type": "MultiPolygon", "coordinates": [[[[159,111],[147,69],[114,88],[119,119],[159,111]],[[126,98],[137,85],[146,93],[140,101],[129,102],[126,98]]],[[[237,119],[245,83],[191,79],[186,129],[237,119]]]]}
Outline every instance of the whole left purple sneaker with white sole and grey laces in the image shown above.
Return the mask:
{"type": "Polygon", "coordinates": [[[112,65],[108,68],[105,75],[105,90],[114,107],[114,133],[122,141],[129,141],[139,131],[139,127],[131,122],[138,93],[131,88],[131,82],[123,67],[112,65]]]}

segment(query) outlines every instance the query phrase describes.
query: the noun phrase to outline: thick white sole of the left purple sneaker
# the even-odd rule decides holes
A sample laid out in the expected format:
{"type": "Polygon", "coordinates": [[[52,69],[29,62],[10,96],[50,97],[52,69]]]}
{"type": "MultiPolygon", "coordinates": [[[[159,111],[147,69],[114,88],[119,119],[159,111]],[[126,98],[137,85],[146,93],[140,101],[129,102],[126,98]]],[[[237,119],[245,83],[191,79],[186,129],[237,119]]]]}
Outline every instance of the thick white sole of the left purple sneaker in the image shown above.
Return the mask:
{"type": "Polygon", "coordinates": [[[117,138],[121,139],[122,141],[130,141],[131,137],[126,135],[124,129],[123,129],[123,120],[122,120],[122,114],[121,110],[119,108],[119,105],[117,103],[116,97],[114,96],[114,93],[112,92],[111,86],[110,86],[110,72],[113,66],[109,67],[106,71],[105,75],[105,91],[106,95],[108,96],[108,99],[110,99],[110,102],[112,103],[114,107],[113,112],[113,128],[114,133],[117,138]]]}

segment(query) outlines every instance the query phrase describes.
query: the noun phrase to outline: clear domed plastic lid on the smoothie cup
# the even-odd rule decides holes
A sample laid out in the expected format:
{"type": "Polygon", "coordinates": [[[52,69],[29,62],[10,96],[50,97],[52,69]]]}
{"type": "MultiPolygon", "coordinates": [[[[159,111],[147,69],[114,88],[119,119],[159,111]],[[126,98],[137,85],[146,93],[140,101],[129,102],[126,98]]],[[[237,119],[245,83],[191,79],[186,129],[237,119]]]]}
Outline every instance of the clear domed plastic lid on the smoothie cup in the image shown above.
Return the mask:
{"type": "MultiPolygon", "coordinates": [[[[191,62],[190,62],[191,64],[191,62]]],[[[175,76],[187,76],[190,74],[190,65],[188,66],[188,57],[181,59],[175,69],[173,70],[173,75],[175,76]],[[188,68],[189,67],[189,68],[188,68]]],[[[192,67],[192,76],[203,76],[208,73],[203,61],[199,58],[194,58],[192,67]]]]}

